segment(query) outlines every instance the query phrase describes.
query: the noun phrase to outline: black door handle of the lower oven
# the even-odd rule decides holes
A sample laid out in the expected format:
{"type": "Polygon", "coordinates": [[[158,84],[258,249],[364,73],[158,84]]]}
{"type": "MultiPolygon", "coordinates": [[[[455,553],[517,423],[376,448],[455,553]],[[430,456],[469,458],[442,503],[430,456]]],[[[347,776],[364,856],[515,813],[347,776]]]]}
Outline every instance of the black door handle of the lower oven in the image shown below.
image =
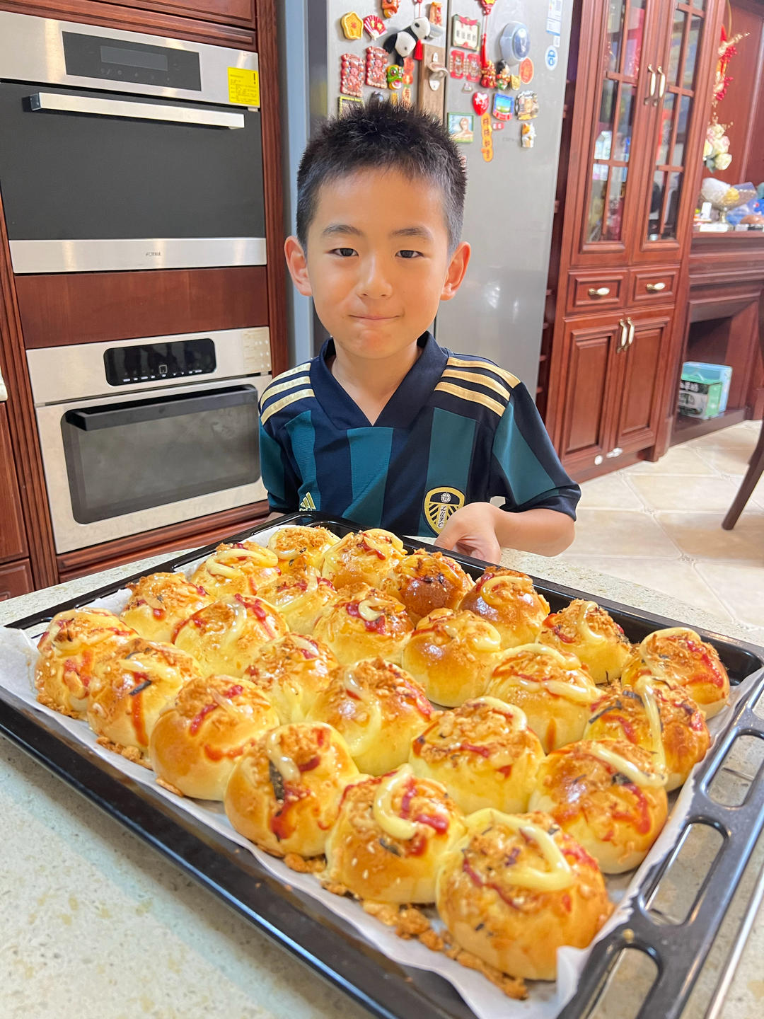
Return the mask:
{"type": "Polygon", "coordinates": [[[135,399],[123,404],[91,407],[79,411],[67,411],[64,421],[81,428],[85,432],[100,428],[118,428],[134,425],[141,421],[158,421],[176,418],[183,414],[198,414],[201,411],[217,411],[226,407],[241,407],[258,403],[258,390],[252,385],[231,386],[229,389],[212,389],[199,396],[179,393],[157,399],[135,399]]]}

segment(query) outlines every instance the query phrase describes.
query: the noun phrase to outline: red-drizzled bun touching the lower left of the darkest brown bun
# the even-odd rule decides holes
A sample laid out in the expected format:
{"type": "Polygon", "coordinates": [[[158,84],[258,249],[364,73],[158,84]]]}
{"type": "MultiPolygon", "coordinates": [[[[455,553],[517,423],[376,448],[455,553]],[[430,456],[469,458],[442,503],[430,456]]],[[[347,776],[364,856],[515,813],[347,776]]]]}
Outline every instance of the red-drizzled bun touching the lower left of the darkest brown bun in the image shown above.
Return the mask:
{"type": "Polygon", "coordinates": [[[314,637],[328,644],[337,661],[352,664],[377,656],[400,664],[400,655],[414,630],[405,608],[366,585],[328,605],[316,621],[314,637]]]}

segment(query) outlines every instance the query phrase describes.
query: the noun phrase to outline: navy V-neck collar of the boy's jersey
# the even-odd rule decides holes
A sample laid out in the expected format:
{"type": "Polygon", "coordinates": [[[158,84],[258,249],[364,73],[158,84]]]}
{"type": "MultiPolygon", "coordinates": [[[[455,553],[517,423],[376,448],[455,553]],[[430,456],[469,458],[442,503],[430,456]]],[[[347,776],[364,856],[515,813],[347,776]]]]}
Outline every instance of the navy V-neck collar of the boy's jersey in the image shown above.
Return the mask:
{"type": "MultiPolygon", "coordinates": [[[[429,332],[424,332],[417,343],[422,353],[383,408],[375,426],[407,428],[440,381],[448,354],[429,332]]],[[[311,363],[311,385],[316,398],[337,428],[370,428],[367,416],[329,371],[326,362],[333,356],[334,340],[329,338],[311,363]]]]}

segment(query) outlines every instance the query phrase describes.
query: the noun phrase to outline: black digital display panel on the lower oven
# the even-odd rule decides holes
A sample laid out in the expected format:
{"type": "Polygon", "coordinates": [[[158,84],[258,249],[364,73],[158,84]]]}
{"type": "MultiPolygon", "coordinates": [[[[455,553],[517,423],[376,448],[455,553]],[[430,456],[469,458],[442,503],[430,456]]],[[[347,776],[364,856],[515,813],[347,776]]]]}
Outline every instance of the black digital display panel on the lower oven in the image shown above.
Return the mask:
{"type": "Polygon", "coordinates": [[[104,351],[109,385],[208,375],[215,371],[215,343],[210,337],[111,346],[104,351]]]}

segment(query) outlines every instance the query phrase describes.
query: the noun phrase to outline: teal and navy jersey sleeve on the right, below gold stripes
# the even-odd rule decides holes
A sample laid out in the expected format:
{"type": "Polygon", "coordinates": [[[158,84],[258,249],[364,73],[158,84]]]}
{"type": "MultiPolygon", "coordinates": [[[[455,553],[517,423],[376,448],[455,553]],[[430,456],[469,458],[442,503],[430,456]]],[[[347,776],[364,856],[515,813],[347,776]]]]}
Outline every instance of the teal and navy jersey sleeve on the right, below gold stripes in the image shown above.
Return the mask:
{"type": "Polygon", "coordinates": [[[504,509],[556,509],[576,520],[581,489],[560,464],[522,382],[512,387],[494,435],[491,489],[494,495],[504,496],[504,509]]]}

